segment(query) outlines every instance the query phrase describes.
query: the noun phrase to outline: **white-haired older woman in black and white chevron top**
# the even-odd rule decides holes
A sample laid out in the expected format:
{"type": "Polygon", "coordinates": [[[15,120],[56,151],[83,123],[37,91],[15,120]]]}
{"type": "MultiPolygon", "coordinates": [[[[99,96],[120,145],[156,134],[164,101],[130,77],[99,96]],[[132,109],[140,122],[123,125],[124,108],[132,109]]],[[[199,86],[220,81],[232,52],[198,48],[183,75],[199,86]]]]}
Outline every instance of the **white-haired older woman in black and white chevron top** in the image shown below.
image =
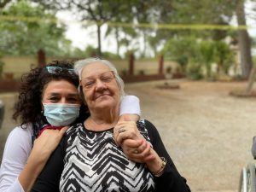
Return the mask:
{"type": "Polygon", "coordinates": [[[124,84],[113,65],[87,59],[75,70],[90,116],[67,131],[32,191],[190,191],[154,125],[118,123],[124,84]]]}

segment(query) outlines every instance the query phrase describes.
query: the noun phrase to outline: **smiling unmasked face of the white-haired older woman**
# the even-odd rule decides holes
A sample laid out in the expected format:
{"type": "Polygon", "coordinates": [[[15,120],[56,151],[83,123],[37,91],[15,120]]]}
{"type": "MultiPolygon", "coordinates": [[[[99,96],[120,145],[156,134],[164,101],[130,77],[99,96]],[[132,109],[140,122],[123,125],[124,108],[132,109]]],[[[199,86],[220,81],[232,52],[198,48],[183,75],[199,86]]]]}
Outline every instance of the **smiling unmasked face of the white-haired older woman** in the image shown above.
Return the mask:
{"type": "Polygon", "coordinates": [[[84,100],[90,111],[103,108],[118,108],[119,87],[111,69],[95,62],[84,67],[81,82],[84,100]]]}

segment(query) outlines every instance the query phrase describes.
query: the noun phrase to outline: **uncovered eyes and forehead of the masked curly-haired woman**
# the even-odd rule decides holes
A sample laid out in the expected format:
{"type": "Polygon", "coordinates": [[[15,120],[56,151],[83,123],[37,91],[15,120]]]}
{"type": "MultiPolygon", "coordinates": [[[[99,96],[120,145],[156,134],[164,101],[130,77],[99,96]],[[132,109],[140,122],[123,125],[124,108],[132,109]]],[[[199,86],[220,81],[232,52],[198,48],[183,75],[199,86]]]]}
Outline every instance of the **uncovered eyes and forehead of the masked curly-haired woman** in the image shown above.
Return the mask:
{"type": "Polygon", "coordinates": [[[67,80],[52,80],[45,84],[43,103],[80,104],[77,88],[67,80]]]}

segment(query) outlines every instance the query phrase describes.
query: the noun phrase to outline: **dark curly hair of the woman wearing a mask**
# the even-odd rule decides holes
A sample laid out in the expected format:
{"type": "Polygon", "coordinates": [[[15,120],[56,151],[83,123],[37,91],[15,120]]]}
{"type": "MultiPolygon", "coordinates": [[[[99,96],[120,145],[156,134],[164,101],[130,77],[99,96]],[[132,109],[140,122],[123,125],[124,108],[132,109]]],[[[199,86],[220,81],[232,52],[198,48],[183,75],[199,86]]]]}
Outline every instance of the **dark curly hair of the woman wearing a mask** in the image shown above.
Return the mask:
{"type": "MultiPolygon", "coordinates": [[[[38,122],[47,123],[44,113],[42,113],[42,93],[45,84],[52,80],[67,80],[74,86],[79,86],[79,77],[71,73],[68,69],[73,69],[73,61],[52,61],[45,67],[36,67],[29,73],[21,77],[20,93],[18,101],[15,103],[15,113],[13,119],[20,119],[21,126],[27,123],[36,124],[38,122]],[[61,67],[57,73],[49,73],[46,67],[61,67]]],[[[79,119],[85,118],[87,109],[81,105],[79,119]]]]}

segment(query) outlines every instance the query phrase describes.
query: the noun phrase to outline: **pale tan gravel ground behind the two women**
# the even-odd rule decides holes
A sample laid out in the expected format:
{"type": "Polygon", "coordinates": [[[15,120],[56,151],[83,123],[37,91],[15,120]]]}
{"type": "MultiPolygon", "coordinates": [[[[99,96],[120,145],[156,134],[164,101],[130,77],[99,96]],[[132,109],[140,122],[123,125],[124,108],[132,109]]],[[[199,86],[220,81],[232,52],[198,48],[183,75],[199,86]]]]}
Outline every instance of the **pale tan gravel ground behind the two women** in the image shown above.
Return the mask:
{"type": "MultiPolygon", "coordinates": [[[[160,131],[177,170],[192,191],[237,191],[241,167],[253,161],[256,98],[229,96],[246,83],[168,81],[180,89],[158,89],[167,81],[126,84],[126,93],[140,98],[142,117],[160,131]]],[[[15,94],[1,94],[6,116],[0,130],[0,154],[9,131],[15,94]]],[[[1,157],[0,155],[0,157],[1,157]]]]}

